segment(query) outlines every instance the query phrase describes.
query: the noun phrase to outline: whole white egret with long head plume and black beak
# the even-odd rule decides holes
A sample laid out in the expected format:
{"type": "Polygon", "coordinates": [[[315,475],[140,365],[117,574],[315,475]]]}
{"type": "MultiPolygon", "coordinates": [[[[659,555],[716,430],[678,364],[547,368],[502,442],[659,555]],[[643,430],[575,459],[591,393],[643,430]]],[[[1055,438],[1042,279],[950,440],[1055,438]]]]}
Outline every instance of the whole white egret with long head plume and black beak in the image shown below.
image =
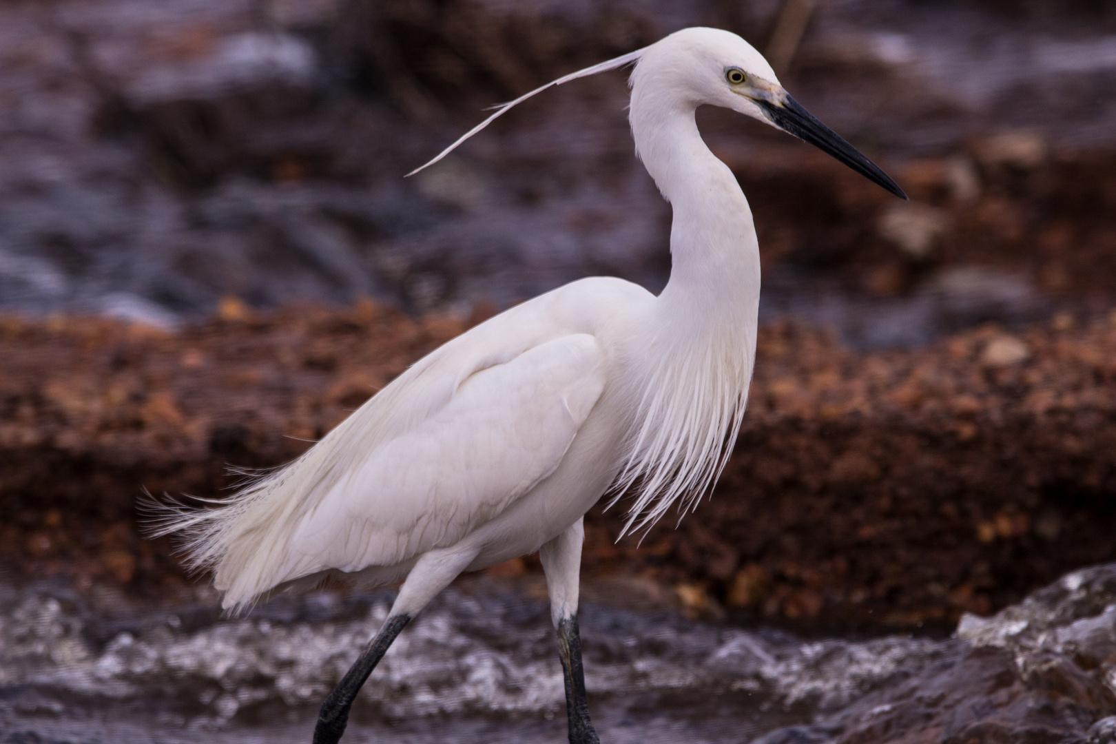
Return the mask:
{"type": "Polygon", "coordinates": [[[904,196],[795,102],[759,52],[709,28],[532,90],[427,165],[550,85],[628,64],[636,153],[674,215],[662,293],[590,278],[511,308],[417,361],[282,470],[217,509],[164,515],[162,533],[189,537],[192,564],[213,570],[232,610],[338,572],[403,581],[383,627],[323,704],[316,744],[340,738],[387,647],[459,573],[536,550],[569,741],[598,741],[577,626],[583,516],[609,490],[635,492],[625,530],[672,504],[693,505],[732,450],[756,356],[756,230],[732,172],[702,142],[699,106],[783,129],[904,196]]]}

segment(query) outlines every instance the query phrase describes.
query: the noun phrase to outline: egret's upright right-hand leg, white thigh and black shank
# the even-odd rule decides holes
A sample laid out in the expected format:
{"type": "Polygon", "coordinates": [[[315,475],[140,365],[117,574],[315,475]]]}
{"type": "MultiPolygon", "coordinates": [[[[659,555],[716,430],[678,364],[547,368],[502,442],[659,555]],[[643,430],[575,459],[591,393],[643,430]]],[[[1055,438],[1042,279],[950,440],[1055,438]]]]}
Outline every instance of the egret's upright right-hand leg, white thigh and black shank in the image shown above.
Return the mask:
{"type": "Polygon", "coordinates": [[[558,631],[558,655],[566,678],[566,715],[570,744],[599,744],[589,719],[585,698],[585,671],[581,668],[581,636],[577,627],[578,574],[581,571],[581,543],[585,525],[578,520],[565,532],[542,545],[539,558],[547,573],[550,592],[550,619],[558,631]]]}

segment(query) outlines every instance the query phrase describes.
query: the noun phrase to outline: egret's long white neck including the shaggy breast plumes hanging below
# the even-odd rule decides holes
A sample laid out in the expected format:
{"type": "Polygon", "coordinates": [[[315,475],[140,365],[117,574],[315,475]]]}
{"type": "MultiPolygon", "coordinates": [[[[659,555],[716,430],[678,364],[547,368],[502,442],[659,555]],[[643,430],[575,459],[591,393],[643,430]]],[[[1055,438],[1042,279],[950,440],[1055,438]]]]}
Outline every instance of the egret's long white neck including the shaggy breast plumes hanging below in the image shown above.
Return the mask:
{"type": "MultiPolygon", "coordinates": [[[[638,69],[637,69],[638,73],[638,69]]],[[[696,105],[662,88],[632,95],[636,151],[674,210],[671,279],[633,341],[641,400],[618,492],[635,486],[632,526],[691,504],[732,452],[756,359],[760,257],[748,200],[702,142],[696,105]]]]}

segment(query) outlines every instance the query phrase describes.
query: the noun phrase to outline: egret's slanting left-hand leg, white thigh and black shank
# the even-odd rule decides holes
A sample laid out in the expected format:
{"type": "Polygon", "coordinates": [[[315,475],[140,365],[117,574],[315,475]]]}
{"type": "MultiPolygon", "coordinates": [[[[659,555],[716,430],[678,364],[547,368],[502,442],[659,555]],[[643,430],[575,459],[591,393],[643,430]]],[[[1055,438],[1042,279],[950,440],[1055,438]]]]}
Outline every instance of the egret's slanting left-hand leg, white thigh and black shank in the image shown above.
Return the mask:
{"type": "Polygon", "coordinates": [[[340,741],[345,726],[348,725],[353,700],[392,641],[411,618],[450,586],[450,582],[464,571],[475,557],[475,550],[461,551],[451,548],[425,553],[419,559],[407,574],[406,581],[400,587],[400,596],[395,598],[392,611],[384,620],[379,632],[321,704],[318,724],[314,728],[314,744],[337,744],[340,741]]]}

